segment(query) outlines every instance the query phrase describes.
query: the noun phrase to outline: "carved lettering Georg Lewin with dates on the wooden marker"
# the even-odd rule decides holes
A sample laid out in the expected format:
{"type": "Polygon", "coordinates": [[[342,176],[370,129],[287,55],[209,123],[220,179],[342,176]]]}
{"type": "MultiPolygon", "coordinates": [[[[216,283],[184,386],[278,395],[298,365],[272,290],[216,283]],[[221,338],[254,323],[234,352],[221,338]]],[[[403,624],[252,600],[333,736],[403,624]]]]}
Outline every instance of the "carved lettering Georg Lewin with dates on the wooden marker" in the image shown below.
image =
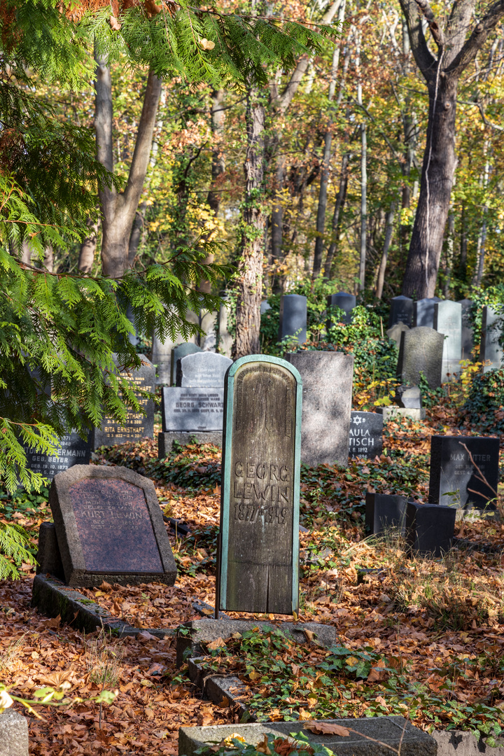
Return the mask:
{"type": "Polygon", "coordinates": [[[235,520],[256,522],[263,517],[264,522],[287,524],[292,502],[289,501],[291,476],[286,465],[236,462],[233,472],[235,520]]]}

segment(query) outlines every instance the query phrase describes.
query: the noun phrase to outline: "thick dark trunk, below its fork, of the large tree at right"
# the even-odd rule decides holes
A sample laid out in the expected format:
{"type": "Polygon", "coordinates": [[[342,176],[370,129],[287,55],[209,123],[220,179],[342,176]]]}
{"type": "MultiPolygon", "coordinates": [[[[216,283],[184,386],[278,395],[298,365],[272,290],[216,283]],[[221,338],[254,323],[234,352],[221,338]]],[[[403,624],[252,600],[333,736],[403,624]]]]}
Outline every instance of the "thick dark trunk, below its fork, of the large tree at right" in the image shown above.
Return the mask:
{"type": "Polygon", "coordinates": [[[443,249],[444,228],[456,168],[455,115],[457,80],[439,76],[428,85],[427,141],[402,293],[433,297],[443,249]]]}

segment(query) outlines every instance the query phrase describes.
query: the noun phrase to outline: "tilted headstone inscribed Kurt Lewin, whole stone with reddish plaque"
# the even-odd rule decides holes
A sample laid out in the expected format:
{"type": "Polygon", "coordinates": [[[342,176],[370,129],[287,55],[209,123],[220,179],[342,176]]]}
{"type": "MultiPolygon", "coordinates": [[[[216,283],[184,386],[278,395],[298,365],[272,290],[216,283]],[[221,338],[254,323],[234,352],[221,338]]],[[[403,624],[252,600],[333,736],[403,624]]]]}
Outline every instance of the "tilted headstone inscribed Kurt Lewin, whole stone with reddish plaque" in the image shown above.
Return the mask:
{"type": "Polygon", "coordinates": [[[68,585],[175,583],[150,479],[126,467],[76,465],[54,477],[49,503],[68,585]]]}

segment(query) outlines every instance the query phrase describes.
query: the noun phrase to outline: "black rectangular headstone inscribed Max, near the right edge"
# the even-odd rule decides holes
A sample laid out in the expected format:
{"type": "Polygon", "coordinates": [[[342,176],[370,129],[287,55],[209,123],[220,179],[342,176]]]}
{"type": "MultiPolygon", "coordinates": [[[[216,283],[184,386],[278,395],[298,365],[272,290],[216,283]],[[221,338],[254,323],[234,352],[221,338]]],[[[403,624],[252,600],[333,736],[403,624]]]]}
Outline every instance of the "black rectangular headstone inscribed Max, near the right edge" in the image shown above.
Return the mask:
{"type": "Polygon", "coordinates": [[[495,504],[489,506],[488,501],[496,497],[498,482],[499,438],[431,436],[429,501],[463,509],[494,510],[495,504]]]}

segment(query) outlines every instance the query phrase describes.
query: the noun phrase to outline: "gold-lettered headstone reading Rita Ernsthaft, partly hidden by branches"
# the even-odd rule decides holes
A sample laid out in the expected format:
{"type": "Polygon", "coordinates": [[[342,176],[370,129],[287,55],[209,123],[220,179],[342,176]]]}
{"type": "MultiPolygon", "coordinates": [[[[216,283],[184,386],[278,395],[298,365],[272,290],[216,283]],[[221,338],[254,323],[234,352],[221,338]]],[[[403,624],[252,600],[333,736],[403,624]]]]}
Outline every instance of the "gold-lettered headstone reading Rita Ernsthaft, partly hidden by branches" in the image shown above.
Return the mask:
{"type": "MultiPolygon", "coordinates": [[[[144,391],[154,392],[156,387],[155,368],[147,360],[145,355],[138,355],[141,358],[142,365],[138,370],[122,370],[121,376],[126,378],[132,388],[143,389],[144,391]]],[[[117,364],[117,361],[114,360],[117,364]]],[[[152,438],[154,433],[154,402],[152,399],[140,397],[137,394],[141,407],[147,414],[128,410],[128,415],[124,425],[119,423],[113,417],[106,415],[101,422],[100,428],[94,428],[91,431],[91,449],[97,449],[99,446],[113,446],[114,444],[124,444],[128,441],[138,442],[142,438],[152,438]]]]}

